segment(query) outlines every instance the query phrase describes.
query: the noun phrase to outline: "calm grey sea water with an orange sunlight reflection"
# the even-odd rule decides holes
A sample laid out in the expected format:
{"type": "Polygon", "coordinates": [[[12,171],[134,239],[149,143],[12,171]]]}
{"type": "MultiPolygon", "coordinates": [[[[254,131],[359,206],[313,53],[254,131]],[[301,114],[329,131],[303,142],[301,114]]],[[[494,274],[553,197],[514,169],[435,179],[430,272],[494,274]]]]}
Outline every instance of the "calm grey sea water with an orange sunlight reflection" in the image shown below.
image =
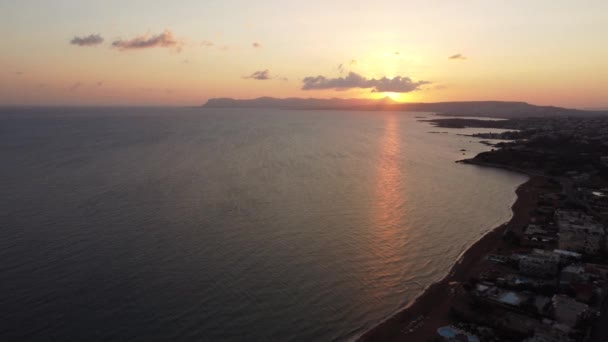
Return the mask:
{"type": "Polygon", "coordinates": [[[526,179],[417,116],[0,110],[0,340],[356,338],[526,179]]]}

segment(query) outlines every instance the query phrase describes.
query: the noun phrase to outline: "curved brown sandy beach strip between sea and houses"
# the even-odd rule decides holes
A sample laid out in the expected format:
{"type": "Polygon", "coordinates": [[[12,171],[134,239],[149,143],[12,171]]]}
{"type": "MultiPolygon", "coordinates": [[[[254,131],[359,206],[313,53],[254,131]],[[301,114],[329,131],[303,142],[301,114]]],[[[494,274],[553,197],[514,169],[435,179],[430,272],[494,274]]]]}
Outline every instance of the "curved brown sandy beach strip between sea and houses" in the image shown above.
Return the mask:
{"type": "Polygon", "coordinates": [[[542,175],[511,171],[530,177],[515,190],[517,198],[511,206],[511,219],[484,234],[460,256],[443,279],[431,284],[404,309],[365,332],[357,341],[427,341],[438,337],[437,328],[452,323],[450,309],[461,290],[459,285],[479,274],[484,257],[504,244],[502,236],[507,230],[522,229],[528,223],[540,188],[547,182],[542,175]]]}

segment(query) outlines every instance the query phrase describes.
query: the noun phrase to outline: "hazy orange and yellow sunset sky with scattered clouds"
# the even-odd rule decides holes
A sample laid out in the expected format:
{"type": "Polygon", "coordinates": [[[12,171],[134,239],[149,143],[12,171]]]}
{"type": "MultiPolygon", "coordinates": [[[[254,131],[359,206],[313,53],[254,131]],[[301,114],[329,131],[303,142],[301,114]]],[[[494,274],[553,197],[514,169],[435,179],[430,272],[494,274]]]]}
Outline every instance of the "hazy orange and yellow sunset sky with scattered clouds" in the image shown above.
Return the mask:
{"type": "Polygon", "coordinates": [[[608,1],[0,0],[0,105],[608,108],[608,1]]]}

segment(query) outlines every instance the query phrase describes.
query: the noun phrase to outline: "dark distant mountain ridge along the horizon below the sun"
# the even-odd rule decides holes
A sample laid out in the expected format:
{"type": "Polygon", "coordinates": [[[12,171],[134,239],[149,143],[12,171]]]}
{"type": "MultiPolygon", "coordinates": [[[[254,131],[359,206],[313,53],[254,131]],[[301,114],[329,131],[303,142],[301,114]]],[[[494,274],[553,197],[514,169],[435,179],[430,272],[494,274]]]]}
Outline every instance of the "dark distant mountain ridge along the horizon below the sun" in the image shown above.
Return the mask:
{"type": "Polygon", "coordinates": [[[464,101],[434,103],[400,103],[389,97],[383,99],[314,99],[260,97],[238,100],[232,98],[210,99],[205,108],[276,108],[305,110],[381,110],[433,112],[446,116],[483,116],[496,118],[546,117],[546,116],[596,116],[608,112],[585,111],[553,106],[535,106],[525,102],[464,101]]]}

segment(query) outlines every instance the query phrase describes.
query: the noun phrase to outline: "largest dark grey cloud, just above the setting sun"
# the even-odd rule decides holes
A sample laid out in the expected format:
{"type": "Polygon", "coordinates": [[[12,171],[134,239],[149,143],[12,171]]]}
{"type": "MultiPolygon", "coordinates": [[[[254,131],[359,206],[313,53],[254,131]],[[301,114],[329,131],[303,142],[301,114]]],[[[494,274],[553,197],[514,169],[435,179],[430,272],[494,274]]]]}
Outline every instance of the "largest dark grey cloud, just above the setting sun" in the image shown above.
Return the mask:
{"type": "Polygon", "coordinates": [[[334,89],[346,90],[352,88],[372,89],[373,92],[409,93],[420,90],[428,81],[414,82],[409,77],[397,76],[380,79],[365,78],[357,73],[349,72],[346,77],[327,78],[325,76],[306,77],[302,80],[302,90],[334,89]]]}

